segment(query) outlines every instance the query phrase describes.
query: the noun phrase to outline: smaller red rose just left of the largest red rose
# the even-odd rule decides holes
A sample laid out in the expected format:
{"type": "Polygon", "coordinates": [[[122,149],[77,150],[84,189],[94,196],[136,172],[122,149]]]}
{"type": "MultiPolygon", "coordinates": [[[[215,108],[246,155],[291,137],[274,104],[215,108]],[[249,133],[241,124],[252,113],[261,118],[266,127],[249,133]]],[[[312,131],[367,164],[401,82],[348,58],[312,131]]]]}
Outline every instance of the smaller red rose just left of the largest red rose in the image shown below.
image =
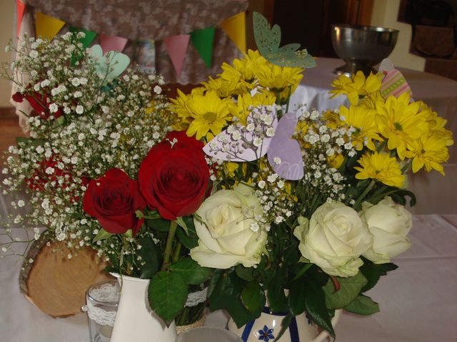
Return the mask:
{"type": "Polygon", "coordinates": [[[108,170],[102,177],[91,180],[83,197],[84,212],[112,234],[124,234],[131,229],[135,236],[144,221],[135,212],[144,207],[146,202],[138,182],[119,169],[108,170]]]}

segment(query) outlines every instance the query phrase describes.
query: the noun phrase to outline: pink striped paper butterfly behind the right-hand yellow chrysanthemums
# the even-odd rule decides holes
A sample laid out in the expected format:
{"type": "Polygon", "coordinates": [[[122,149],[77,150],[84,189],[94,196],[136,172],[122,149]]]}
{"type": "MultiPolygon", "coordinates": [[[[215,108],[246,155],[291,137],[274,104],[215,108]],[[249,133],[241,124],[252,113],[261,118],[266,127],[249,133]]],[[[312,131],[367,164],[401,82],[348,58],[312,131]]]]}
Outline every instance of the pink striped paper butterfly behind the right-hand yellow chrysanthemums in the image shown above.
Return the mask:
{"type": "Polygon", "coordinates": [[[381,83],[381,95],[383,98],[388,98],[390,95],[398,98],[403,93],[409,93],[410,97],[413,95],[405,76],[393,66],[393,63],[388,58],[384,58],[381,61],[379,72],[384,75],[381,83]]]}

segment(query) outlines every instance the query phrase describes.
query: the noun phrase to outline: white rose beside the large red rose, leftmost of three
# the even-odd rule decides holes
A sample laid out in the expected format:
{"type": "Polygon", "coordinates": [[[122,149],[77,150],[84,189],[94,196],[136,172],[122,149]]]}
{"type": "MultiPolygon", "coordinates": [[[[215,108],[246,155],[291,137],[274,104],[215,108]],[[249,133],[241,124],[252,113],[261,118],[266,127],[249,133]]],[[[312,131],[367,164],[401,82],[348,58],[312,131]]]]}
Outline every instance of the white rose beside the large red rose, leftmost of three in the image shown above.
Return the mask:
{"type": "Polygon", "coordinates": [[[251,224],[261,213],[261,204],[251,187],[238,185],[233,190],[215,192],[196,211],[199,246],[191,249],[192,259],[201,266],[218,269],[258,264],[266,232],[253,232],[251,224]]]}

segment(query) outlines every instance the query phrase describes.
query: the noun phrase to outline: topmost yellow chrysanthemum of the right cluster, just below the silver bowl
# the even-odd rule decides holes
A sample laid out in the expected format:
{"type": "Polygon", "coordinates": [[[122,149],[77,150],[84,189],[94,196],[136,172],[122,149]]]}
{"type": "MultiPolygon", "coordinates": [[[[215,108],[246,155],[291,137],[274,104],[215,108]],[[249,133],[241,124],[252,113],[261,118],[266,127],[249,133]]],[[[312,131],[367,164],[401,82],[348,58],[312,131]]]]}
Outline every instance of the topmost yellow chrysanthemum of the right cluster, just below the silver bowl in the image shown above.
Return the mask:
{"type": "Polygon", "coordinates": [[[383,75],[380,73],[376,75],[370,73],[366,78],[361,71],[357,71],[356,75],[353,75],[352,78],[345,75],[338,76],[331,83],[331,86],[335,88],[330,90],[330,93],[333,94],[331,98],[345,94],[348,96],[348,100],[352,105],[357,105],[358,99],[361,96],[381,90],[382,78],[383,75]]]}

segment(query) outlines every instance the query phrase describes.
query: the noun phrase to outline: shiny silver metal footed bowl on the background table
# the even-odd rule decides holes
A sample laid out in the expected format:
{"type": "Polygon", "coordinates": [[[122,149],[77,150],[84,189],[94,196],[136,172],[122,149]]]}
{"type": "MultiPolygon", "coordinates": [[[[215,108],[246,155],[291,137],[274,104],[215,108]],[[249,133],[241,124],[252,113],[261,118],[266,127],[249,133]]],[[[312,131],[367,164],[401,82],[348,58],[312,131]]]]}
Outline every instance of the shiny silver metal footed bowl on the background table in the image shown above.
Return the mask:
{"type": "Polygon", "coordinates": [[[351,76],[363,71],[368,76],[373,68],[391,54],[397,42],[398,30],[376,26],[331,26],[331,43],[339,58],[346,62],[335,69],[338,75],[351,76]]]}

